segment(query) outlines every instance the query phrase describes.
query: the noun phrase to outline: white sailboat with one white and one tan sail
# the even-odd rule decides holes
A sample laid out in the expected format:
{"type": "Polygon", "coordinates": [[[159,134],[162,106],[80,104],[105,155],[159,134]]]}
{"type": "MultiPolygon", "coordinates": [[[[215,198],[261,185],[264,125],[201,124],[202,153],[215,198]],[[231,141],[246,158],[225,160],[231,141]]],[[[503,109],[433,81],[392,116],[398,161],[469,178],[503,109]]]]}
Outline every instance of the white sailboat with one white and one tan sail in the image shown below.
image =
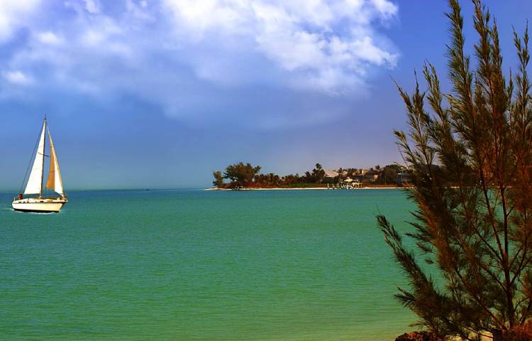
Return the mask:
{"type": "Polygon", "coordinates": [[[67,202],[52,135],[50,134],[50,129],[48,129],[45,118],[26,188],[24,189],[24,193],[19,194],[13,199],[13,210],[22,212],[59,212],[61,207],[67,202]],[[51,197],[45,197],[43,195],[44,161],[45,156],[47,156],[45,155],[47,131],[48,139],[50,140],[50,171],[48,172],[48,181],[46,182],[45,188],[57,193],[57,195],[51,197]],[[38,195],[38,197],[26,197],[26,195],[38,195]]]}

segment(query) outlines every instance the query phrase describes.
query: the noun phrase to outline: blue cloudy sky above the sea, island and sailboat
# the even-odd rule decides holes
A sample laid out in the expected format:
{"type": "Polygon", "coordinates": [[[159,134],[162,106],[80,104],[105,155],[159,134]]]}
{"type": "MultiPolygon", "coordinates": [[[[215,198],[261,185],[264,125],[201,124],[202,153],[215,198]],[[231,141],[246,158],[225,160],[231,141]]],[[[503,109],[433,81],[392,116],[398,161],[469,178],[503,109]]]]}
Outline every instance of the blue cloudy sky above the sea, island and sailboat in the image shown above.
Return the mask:
{"type": "MultiPolygon", "coordinates": [[[[506,67],[527,0],[484,1],[506,67]]],[[[469,52],[472,6],[462,1],[469,52]]],[[[46,115],[65,188],[200,188],[400,162],[394,85],[430,61],[449,90],[444,0],[0,0],[0,189],[46,115]]],[[[509,70],[509,69],[508,69],[509,70]]],[[[421,82],[423,87],[423,82],[421,82]]]]}

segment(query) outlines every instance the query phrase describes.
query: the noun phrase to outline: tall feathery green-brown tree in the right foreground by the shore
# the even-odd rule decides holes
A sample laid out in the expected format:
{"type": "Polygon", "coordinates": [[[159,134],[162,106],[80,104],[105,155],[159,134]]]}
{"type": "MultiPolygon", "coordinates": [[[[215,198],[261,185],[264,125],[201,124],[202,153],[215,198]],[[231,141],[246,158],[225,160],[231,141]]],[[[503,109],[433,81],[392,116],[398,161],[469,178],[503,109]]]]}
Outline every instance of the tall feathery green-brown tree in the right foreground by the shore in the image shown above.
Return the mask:
{"type": "MultiPolygon", "coordinates": [[[[379,229],[409,288],[397,298],[440,337],[480,340],[492,330],[520,330],[532,317],[532,103],[528,26],[514,31],[516,75],[504,75],[497,24],[480,0],[475,68],[465,55],[463,17],[449,0],[450,93],[426,63],[426,91],[408,94],[409,131],[395,131],[412,173],[416,203],[406,234],[379,215],[379,229]],[[437,274],[433,278],[429,274],[437,274]]],[[[529,339],[528,339],[529,340],[529,339]]]]}

